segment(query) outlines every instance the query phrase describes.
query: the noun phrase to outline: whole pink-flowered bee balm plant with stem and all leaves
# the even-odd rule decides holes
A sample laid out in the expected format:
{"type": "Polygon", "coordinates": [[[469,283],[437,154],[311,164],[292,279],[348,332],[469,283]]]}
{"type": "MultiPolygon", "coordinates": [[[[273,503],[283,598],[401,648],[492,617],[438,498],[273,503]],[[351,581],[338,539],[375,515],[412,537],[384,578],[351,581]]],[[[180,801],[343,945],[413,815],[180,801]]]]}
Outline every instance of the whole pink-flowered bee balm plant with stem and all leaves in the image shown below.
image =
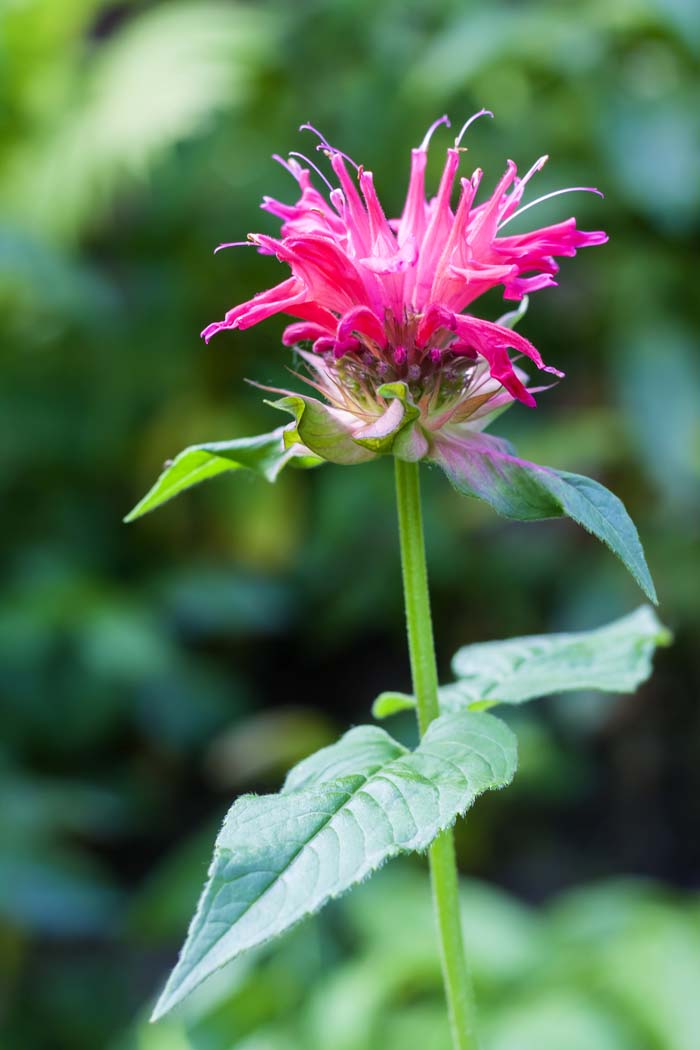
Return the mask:
{"type": "Polygon", "coordinates": [[[632,691],[649,675],[655,646],[669,640],[644,606],[595,631],[468,646],[454,657],[457,680],[438,686],[421,462],[437,464],[458,491],[507,518],[572,518],[602,540],[656,602],[636,529],[615,496],[588,478],[522,460],[504,440],[484,434],[514,401],[535,404],[537,388],[528,388],[511,352],[561,376],[513,331],[527,295],[555,284],[556,256],[607,239],[577,229],[574,218],[530,233],[504,232],[538,203],[522,202],[546,156],[523,177],[508,162],[479,204],[482,172],[462,178],[452,210],[461,142],[485,112],[467,121],[447,150],[438,192],[428,200],[428,144],[449,122],[443,117],[432,125],[412,150],[399,219],[385,217],[369,171],[303,126],[320,139],[317,149],[338,185],[299,153],[277,158],[298,183],[299,200],[287,205],[264,197],[262,207],[282,220],[281,235],[250,234],[242,244],[276,255],[292,276],[230,310],[203,335],[208,340],[273,314],[292,315],[282,340],[295,348],[306,391],[274,392],[281,397],[271,404],[293,420],[271,434],[186,448],[127,518],[227,470],[245,468],[274,481],[287,463],[393,456],[413,693],[383,693],[374,713],[381,718],[415,707],[421,735],[411,752],[379,727],[357,727],[296,765],[279,794],[234,803],[154,1018],[218,967],[289,929],[387,858],[429,848],[452,1041],[455,1050],[476,1047],[451,826],[482,792],[508,784],[516,768],[512,732],[484,709],[571,689],[632,691]],[[327,186],[327,198],[312,170],[327,186]],[[516,311],[495,323],[465,312],[499,285],[505,298],[521,302],[516,311]]]}

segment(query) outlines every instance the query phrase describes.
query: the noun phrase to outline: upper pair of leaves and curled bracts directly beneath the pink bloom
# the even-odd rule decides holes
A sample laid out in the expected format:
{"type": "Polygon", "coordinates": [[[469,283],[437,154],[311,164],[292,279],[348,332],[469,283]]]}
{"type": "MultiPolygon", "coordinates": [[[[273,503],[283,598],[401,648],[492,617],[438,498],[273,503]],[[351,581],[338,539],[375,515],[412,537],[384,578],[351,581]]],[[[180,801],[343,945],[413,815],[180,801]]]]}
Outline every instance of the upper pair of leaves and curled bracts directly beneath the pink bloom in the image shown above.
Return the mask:
{"type": "Polygon", "coordinates": [[[256,438],[186,448],[125,520],[134,521],[186,488],[231,470],[249,469],[272,482],[288,463],[349,465],[391,453],[406,460],[428,458],[459,492],[484,500],[506,518],[571,518],[601,540],[656,603],[634,523],[622,502],[603,485],[521,460],[507,442],[465,428],[446,428],[433,436],[428,448],[405,384],[391,383],[381,390],[388,406],[372,424],[353,433],[342,418],[346,414],[316,398],[290,395],[274,402],[275,407],[291,413],[295,422],[256,438]]]}

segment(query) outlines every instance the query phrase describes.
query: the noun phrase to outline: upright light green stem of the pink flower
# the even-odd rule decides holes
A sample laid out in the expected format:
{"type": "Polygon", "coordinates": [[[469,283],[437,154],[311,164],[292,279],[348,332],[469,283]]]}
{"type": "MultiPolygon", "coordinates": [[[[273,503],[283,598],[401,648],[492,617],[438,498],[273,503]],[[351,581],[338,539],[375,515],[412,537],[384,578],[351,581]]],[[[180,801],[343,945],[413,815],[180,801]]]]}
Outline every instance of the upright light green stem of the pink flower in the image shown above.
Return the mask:
{"type": "MultiPolygon", "coordinates": [[[[418,463],[395,459],[401,568],[408,629],[408,652],[421,736],[440,714],[430,595],[425,565],[418,463]]],[[[432,898],[440,932],[445,995],[454,1050],[478,1050],[474,1003],[464,954],[454,840],[442,832],[430,846],[432,898]]]]}

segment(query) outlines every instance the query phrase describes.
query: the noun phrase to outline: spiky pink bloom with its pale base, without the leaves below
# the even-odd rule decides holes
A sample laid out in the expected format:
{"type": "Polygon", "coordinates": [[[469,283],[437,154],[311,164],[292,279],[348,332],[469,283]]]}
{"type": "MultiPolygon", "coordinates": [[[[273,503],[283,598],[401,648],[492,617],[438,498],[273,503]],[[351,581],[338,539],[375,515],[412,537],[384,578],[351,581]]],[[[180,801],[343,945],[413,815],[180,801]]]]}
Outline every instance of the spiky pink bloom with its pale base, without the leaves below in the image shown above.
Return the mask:
{"type": "Polygon", "coordinates": [[[469,405],[475,418],[485,414],[487,402],[489,413],[513,399],[534,405],[527,377],[510,352],[545,372],[563,373],[546,365],[532,343],[510,328],[465,311],[496,286],[503,286],[506,299],[521,300],[554,285],[556,256],[575,255],[578,248],[603,244],[607,236],[578,230],[574,218],[530,233],[504,232],[515,215],[538,203],[522,205],[527,184],[547,158],[523,177],[509,161],[482,203],[475,203],[482,178],[476,169],[470,178],[460,180],[452,208],[464,151],[460,143],[485,112],[467,121],[447,150],[438,192],[428,200],[428,144],[439,125],[449,126],[445,117],[436,121],[411,152],[408,192],[398,219],[386,218],[372,172],[357,168],[318,132],[317,148],[328,158],[335,188],[311,161],[302,166],[294,158],[277,158],[299,184],[300,197],[294,205],[264,197],[262,208],[282,220],[280,236],[252,233],[249,243],[287,262],[292,276],[209,324],[205,339],[225,329],[251,328],[273,314],[291,315],[296,320],[285,329],[283,342],[311,343],[312,352],[303,356],[312,384],[343,413],[356,413],[359,405],[360,427],[376,415],[377,392],[397,382],[405,384],[419,406],[428,434],[448,420],[466,419],[469,405]],[[348,165],[357,168],[356,175],[348,165]],[[326,183],[327,198],[313,185],[312,168],[326,183]]]}

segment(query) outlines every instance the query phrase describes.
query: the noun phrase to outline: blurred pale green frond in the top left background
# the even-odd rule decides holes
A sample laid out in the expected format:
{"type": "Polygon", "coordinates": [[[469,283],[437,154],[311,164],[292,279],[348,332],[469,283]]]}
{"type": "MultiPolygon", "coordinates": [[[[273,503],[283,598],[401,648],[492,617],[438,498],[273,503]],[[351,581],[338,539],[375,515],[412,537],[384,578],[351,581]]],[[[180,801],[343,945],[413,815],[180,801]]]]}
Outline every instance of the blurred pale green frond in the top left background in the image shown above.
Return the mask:
{"type": "MultiPolygon", "coordinates": [[[[5,18],[12,32],[21,15],[5,18]]],[[[16,216],[61,239],[92,228],[125,183],[246,100],[273,39],[263,12],[179,0],[128,20],[72,67],[49,52],[43,86],[52,71],[60,89],[42,98],[41,119],[0,184],[16,216]]]]}

